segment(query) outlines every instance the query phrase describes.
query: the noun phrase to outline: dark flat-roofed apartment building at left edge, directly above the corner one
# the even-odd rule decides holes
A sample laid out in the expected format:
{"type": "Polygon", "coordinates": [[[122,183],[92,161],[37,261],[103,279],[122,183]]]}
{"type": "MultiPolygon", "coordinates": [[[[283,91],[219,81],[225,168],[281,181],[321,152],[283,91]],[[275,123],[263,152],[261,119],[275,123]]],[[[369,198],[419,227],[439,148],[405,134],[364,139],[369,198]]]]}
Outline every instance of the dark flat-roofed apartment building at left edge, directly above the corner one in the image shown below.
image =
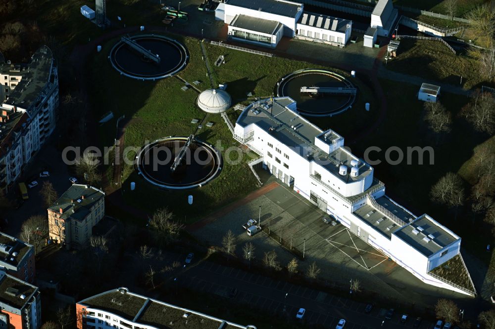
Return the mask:
{"type": "Polygon", "coordinates": [[[36,277],[35,248],[0,232],[0,271],[28,283],[36,277]]]}

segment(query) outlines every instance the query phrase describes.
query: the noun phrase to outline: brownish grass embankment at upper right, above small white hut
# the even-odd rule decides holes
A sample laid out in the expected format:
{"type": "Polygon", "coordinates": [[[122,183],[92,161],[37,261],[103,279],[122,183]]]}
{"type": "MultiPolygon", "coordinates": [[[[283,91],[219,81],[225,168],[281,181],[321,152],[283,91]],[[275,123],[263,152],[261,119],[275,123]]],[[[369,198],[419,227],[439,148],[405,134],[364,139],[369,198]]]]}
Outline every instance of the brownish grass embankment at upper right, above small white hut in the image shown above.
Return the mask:
{"type": "Polygon", "coordinates": [[[478,63],[467,55],[454,54],[440,41],[400,40],[397,57],[388,61],[389,70],[452,85],[472,88],[483,82],[478,63]],[[414,72],[411,72],[414,68],[414,72]]]}

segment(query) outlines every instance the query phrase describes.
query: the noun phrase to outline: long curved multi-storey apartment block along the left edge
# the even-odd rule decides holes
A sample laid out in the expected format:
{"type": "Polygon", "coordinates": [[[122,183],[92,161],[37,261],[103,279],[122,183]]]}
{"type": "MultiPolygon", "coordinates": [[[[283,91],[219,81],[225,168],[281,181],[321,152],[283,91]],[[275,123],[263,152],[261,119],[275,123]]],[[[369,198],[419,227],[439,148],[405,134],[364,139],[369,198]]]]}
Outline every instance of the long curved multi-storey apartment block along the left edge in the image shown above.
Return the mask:
{"type": "Polygon", "coordinates": [[[29,64],[0,55],[0,195],[8,192],[55,129],[58,75],[51,50],[42,46],[29,64]]]}

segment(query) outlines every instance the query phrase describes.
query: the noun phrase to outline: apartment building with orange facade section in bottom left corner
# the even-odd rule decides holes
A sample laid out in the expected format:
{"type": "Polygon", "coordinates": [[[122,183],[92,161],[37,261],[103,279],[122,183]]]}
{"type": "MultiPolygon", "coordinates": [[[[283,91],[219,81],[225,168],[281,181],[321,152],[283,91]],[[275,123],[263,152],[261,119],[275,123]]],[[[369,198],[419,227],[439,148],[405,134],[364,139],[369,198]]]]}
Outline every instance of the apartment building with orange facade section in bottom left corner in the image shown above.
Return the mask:
{"type": "Polygon", "coordinates": [[[40,301],[38,287],[0,272],[0,328],[40,328],[40,301]]]}

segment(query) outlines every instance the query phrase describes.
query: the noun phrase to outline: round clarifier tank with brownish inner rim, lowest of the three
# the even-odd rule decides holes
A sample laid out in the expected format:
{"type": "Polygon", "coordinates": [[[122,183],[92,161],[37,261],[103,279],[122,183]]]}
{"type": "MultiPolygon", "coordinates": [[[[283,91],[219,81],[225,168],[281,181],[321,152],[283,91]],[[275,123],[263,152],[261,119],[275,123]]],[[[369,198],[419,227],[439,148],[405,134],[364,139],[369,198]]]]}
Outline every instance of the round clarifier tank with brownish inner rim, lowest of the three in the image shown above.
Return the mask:
{"type": "Polygon", "coordinates": [[[137,165],[151,184],[186,190],[216,178],[222,168],[222,156],[212,145],[196,138],[172,136],[146,145],[138,154],[137,165]]]}

